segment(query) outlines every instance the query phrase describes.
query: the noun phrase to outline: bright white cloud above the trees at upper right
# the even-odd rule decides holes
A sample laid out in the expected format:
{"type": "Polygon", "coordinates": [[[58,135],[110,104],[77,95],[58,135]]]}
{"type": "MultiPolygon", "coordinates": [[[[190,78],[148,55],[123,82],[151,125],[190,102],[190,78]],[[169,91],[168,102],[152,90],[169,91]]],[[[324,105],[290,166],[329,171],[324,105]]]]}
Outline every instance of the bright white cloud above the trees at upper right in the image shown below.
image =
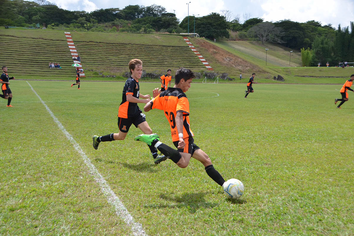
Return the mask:
{"type": "Polygon", "coordinates": [[[297,0],[287,1],[268,0],[261,4],[264,21],[279,21],[290,19],[291,21],[307,22],[319,21],[322,25],[338,24],[348,26],[353,21],[354,2],[348,0],[297,0]]]}

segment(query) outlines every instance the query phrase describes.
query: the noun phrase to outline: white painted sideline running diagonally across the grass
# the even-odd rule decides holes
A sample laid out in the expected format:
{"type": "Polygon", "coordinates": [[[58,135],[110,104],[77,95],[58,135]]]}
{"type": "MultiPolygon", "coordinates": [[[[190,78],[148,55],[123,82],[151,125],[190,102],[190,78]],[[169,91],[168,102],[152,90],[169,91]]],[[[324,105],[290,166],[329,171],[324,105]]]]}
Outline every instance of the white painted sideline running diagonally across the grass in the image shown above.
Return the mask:
{"type": "Polygon", "coordinates": [[[80,145],[76,143],[75,139],[71,134],[69,134],[68,131],[64,128],[62,123],[55,117],[55,115],[52,113],[52,111],[48,108],[48,106],[45,104],[45,102],[39,97],[39,95],[34,91],[33,87],[29,84],[28,81],[26,81],[29,87],[31,87],[32,91],[37,95],[41,103],[44,105],[44,107],[47,109],[48,113],[52,116],[53,120],[57,123],[61,131],[65,134],[65,136],[69,139],[70,143],[73,144],[74,148],[76,151],[78,151],[84,160],[86,166],[89,168],[90,173],[93,174],[93,177],[95,178],[96,182],[98,185],[101,187],[102,192],[104,195],[107,197],[107,200],[110,204],[112,204],[115,208],[115,213],[121,217],[125,223],[129,226],[131,226],[131,229],[133,231],[133,235],[147,235],[143,229],[143,226],[140,223],[136,223],[131,216],[131,214],[128,212],[127,208],[123,205],[123,203],[119,200],[119,198],[115,195],[115,193],[112,191],[110,186],[107,184],[106,180],[102,177],[102,175],[98,172],[96,167],[91,163],[91,160],[89,157],[86,156],[85,152],[82,151],[80,145]]]}

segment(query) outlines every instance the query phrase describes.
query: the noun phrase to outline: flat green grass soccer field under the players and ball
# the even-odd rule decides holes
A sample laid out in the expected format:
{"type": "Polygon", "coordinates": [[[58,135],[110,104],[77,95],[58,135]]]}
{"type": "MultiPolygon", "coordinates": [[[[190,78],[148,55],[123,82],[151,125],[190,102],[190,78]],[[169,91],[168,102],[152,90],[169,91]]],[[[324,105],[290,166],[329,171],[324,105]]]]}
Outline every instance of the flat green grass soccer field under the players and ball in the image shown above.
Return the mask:
{"type": "MultiPolygon", "coordinates": [[[[230,201],[196,160],[185,169],[154,165],[147,146],[133,141],[135,127],[126,140],[92,148],[94,134],[118,131],[123,85],[11,81],[14,107],[0,100],[0,235],[354,234],[351,92],[335,109],[340,85],[256,84],[245,99],[244,84],[192,83],[195,143],[225,179],[245,185],[230,201]],[[142,231],[109,203],[88,160],[142,231]]],[[[140,86],[151,94],[158,83],[140,86]]],[[[149,111],[147,121],[172,145],[162,113],[149,111]]]]}

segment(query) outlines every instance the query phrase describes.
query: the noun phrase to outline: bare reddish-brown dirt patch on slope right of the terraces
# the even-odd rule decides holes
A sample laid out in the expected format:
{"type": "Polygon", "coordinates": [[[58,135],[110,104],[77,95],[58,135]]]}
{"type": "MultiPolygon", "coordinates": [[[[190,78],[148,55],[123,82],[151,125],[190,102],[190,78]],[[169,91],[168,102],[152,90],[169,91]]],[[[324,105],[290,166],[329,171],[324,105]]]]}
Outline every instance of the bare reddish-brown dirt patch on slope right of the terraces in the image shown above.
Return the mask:
{"type": "Polygon", "coordinates": [[[255,72],[267,73],[257,65],[247,62],[244,59],[239,58],[234,54],[211,44],[210,42],[207,42],[203,39],[197,39],[197,38],[194,38],[193,41],[194,41],[194,46],[197,47],[197,50],[199,50],[201,53],[206,50],[208,53],[211,54],[210,58],[206,58],[207,61],[210,63],[216,61],[217,63],[223,66],[233,67],[239,71],[255,71],[255,72]]]}

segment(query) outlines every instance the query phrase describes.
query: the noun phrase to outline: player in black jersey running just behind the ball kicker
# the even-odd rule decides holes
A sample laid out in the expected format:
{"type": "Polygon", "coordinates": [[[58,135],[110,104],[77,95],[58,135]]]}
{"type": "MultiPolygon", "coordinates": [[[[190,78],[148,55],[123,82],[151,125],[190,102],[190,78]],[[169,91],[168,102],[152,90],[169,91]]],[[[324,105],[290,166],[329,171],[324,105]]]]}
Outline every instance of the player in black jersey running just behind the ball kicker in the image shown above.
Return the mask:
{"type": "MultiPolygon", "coordinates": [[[[152,134],[152,130],[145,120],[145,114],[138,107],[138,103],[150,102],[150,94],[142,95],[139,93],[139,79],[143,72],[143,62],[139,59],[132,59],[129,62],[129,70],[131,76],[125,81],[123,88],[122,102],[118,110],[118,127],[119,133],[111,133],[104,136],[93,136],[93,148],[97,149],[100,142],[124,140],[127,136],[129,128],[132,124],[141,129],[145,134],[152,134]],[[139,99],[142,98],[142,99],[139,99]]],[[[165,156],[159,156],[157,149],[148,145],[154,157],[155,164],[160,163],[165,156]]]]}

